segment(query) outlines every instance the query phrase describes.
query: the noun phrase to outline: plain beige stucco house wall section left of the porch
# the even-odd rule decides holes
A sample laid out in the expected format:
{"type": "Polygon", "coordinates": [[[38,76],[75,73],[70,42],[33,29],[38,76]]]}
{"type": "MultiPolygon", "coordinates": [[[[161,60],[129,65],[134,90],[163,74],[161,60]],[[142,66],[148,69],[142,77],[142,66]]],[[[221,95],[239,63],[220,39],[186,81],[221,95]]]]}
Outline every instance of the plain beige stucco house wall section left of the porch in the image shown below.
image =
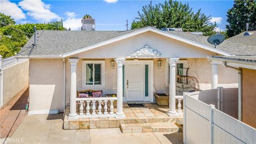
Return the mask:
{"type": "Polygon", "coordinates": [[[30,59],[29,111],[63,111],[62,59],[30,59]]]}

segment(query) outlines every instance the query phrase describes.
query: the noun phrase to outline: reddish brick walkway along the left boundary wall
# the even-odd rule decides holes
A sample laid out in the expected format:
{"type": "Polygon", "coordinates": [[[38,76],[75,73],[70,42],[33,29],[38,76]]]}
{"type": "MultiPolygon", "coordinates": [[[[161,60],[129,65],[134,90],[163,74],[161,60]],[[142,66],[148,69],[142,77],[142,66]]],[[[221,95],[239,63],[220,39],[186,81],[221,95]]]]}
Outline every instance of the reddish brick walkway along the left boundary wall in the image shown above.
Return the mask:
{"type": "Polygon", "coordinates": [[[28,87],[20,91],[11,99],[2,110],[0,110],[1,119],[1,141],[12,136],[14,131],[21,124],[27,113],[25,106],[28,100],[28,87]]]}

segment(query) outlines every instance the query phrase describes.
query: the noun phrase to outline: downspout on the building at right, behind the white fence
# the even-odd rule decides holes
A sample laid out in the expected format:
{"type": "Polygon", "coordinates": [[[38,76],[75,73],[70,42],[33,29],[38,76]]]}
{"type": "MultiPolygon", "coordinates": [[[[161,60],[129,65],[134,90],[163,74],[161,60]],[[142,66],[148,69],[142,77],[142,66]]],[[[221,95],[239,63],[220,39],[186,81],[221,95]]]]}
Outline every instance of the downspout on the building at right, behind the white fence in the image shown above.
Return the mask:
{"type": "Polygon", "coordinates": [[[226,61],[223,61],[222,65],[238,70],[238,120],[242,121],[242,69],[228,66],[226,61]]]}

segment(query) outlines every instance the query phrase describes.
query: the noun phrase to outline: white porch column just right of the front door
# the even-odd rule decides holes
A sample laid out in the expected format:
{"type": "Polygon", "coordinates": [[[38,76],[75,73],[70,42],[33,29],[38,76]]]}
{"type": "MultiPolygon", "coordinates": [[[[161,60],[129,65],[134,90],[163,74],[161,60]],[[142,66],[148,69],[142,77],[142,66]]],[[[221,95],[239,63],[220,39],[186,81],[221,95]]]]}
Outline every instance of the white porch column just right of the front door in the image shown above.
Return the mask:
{"type": "Polygon", "coordinates": [[[179,116],[176,109],[175,109],[175,95],[176,95],[176,63],[179,61],[179,58],[170,58],[167,59],[167,62],[170,66],[169,71],[169,111],[167,111],[167,115],[170,117],[177,117],[179,116]]]}

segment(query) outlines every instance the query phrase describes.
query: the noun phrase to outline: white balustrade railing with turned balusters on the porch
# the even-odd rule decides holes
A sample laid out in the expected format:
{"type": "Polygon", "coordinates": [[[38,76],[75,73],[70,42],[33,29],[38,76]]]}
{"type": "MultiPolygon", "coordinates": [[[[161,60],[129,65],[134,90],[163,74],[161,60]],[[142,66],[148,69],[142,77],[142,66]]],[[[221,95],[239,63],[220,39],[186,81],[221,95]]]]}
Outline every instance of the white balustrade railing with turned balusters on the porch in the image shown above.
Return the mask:
{"type": "Polygon", "coordinates": [[[115,117],[114,100],[116,97],[76,98],[76,107],[79,118],[115,117]]]}

